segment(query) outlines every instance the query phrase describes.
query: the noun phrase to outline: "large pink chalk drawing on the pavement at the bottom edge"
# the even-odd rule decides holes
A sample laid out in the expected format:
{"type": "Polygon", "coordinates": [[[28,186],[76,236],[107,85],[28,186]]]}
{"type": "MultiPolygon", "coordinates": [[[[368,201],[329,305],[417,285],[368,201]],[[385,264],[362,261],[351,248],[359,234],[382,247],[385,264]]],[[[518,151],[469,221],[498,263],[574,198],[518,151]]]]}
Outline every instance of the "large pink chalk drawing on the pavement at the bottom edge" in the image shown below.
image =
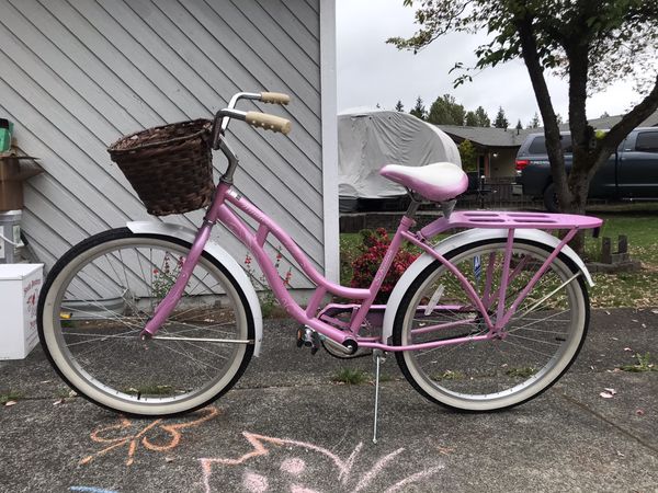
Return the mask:
{"type": "MultiPolygon", "coordinates": [[[[276,491],[282,491],[281,484],[285,483],[286,480],[290,480],[287,481],[290,484],[287,484],[286,491],[290,491],[291,493],[318,493],[313,489],[313,484],[302,484],[303,482],[313,482],[313,474],[309,473],[306,474],[306,477],[304,475],[305,470],[308,469],[307,462],[298,456],[309,455],[319,455],[321,460],[326,460],[331,465],[331,467],[322,469],[322,478],[331,479],[332,474],[336,474],[337,482],[334,483],[334,486],[338,490],[354,493],[364,492],[373,485],[373,482],[375,482],[377,478],[384,477],[382,472],[387,467],[396,463],[396,460],[394,459],[400,457],[405,451],[404,448],[398,448],[397,450],[379,457],[374,466],[366,469],[362,466],[359,468],[355,467],[358,461],[363,463],[363,459],[360,458],[363,443],[356,445],[347,459],[341,459],[332,451],[309,443],[287,438],[274,438],[249,432],[242,432],[242,436],[251,447],[251,449],[242,456],[237,458],[220,457],[198,459],[202,469],[202,483],[206,493],[213,491],[211,484],[213,474],[220,474],[224,471],[222,468],[226,467],[229,468],[226,471],[232,471],[234,468],[238,466],[245,468],[241,484],[242,489],[248,493],[275,491],[274,488],[270,489],[273,481],[276,481],[276,491]],[[283,460],[281,460],[281,457],[273,457],[273,451],[280,451],[276,456],[283,455],[283,460]],[[269,478],[260,472],[254,472],[253,468],[258,467],[259,459],[261,461],[266,460],[270,462],[270,466],[268,467],[269,470],[272,470],[274,463],[276,463],[277,460],[281,460],[281,466],[276,468],[277,471],[274,472],[274,474],[280,475],[269,478]],[[333,470],[331,470],[332,468],[333,470]],[[356,469],[359,469],[359,472],[356,469]],[[363,469],[366,469],[366,471],[362,472],[363,469]],[[307,478],[307,480],[303,481],[305,478],[307,478]]],[[[317,462],[317,459],[315,462],[317,462]]],[[[392,485],[383,491],[386,493],[398,492],[409,484],[428,480],[431,475],[443,469],[443,463],[440,462],[426,463],[424,466],[419,465],[419,468],[421,469],[419,472],[395,480],[392,485]]],[[[387,471],[386,475],[389,477],[390,471],[387,471]]]]}

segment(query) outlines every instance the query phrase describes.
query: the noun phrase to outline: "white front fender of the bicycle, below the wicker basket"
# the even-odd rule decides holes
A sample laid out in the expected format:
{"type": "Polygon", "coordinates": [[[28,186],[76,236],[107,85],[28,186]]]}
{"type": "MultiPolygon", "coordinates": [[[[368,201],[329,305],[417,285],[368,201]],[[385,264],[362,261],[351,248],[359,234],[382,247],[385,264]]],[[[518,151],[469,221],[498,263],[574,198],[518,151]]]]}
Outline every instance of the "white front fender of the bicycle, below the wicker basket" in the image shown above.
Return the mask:
{"type": "MultiPolygon", "coordinates": [[[[134,233],[141,234],[161,234],[164,237],[180,238],[192,244],[196,236],[196,231],[184,226],[172,225],[169,222],[151,222],[151,221],[132,221],[126,223],[126,227],[134,233]]],[[[204,249],[211,256],[217,260],[231,276],[238,282],[240,289],[245,293],[249,308],[253,316],[253,329],[256,332],[256,346],[253,348],[253,356],[258,356],[260,353],[260,346],[263,340],[263,316],[260,308],[260,301],[253,285],[247,277],[245,270],[230,256],[230,254],[224,250],[219,244],[209,240],[204,249]]]]}

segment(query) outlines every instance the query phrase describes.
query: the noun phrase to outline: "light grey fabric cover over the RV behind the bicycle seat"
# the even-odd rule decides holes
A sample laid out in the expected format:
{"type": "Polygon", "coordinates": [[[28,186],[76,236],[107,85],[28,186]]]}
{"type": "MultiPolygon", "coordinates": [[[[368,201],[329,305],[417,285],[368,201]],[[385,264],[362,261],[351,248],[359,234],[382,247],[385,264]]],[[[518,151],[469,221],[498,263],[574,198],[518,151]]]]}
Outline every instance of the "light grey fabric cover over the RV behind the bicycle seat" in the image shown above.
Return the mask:
{"type": "Polygon", "coordinates": [[[405,187],[379,175],[385,164],[420,167],[449,161],[462,165],[455,142],[422,119],[401,112],[365,111],[338,115],[339,195],[385,198],[405,187]]]}

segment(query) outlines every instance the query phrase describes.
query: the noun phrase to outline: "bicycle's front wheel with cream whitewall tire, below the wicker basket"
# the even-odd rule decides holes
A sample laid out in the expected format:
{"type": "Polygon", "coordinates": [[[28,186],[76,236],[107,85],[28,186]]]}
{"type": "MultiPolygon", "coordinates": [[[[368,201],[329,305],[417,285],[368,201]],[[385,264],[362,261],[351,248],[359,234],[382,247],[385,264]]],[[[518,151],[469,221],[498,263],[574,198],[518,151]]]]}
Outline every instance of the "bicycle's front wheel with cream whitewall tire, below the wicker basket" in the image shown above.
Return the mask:
{"type": "Polygon", "coordinates": [[[190,244],[127,228],[81,242],[50,271],[42,345],[79,394],[132,415],[175,415],[226,392],[253,354],[254,323],[236,279],[206,252],[152,340],[139,336],[190,244]]]}

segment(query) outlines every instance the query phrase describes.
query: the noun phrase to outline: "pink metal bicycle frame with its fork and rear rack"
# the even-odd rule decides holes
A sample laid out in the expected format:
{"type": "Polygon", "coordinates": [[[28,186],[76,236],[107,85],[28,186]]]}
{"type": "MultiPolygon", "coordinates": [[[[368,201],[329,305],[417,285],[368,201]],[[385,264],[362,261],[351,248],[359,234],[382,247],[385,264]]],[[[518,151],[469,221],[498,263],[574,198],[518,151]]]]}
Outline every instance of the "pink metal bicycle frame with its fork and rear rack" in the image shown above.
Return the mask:
{"type": "MultiPolygon", "coordinates": [[[[466,341],[487,341],[499,336],[501,329],[513,317],[517,308],[532,290],[542,275],[547,271],[548,266],[559,254],[560,250],[574,238],[577,231],[579,229],[598,228],[601,226],[602,221],[598,218],[590,218],[586,216],[473,211],[454,213],[450,216],[450,218],[439,218],[418,232],[411,232],[411,228],[416,225],[416,221],[411,217],[405,216],[398,226],[398,229],[371,286],[367,289],[349,288],[331,283],[321,274],[319,274],[315,267],[313,267],[304,252],[283,229],[281,229],[258,207],[252,205],[245,197],[232,190],[230,181],[223,180],[217,186],[213,203],[206,211],[203,225],[198,229],[190,254],[185,259],[183,267],[181,268],[179,278],[174,283],[170,293],[157,307],[152,319],[147,323],[141,333],[143,336],[155,335],[159,326],[175,307],[183,294],[190,275],[196,262],[198,261],[206,242],[209,239],[211,230],[216,222],[220,222],[226,226],[231,233],[247,246],[248,251],[253,254],[274,296],[286,310],[286,312],[299,323],[317,331],[322,336],[328,337],[338,344],[348,345],[348,343],[351,343],[355,344],[354,347],[358,345],[359,347],[398,352],[433,348],[447,344],[460,344],[466,341]],[[259,223],[258,229],[253,231],[230,206],[243,211],[249,217],[254,219],[259,223]],[[454,228],[503,228],[508,230],[502,279],[501,285],[496,293],[494,293],[491,289],[491,272],[487,272],[486,274],[485,296],[480,298],[476,294],[475,288],[458,271],[458,268],[432,248],[430,240],[438,234],[454,228]],[[526,287],[518,295],[510,308],[506,310],[502,301],[504,300],[507,287],[522,268],[522,266],[517,265],[514,270],[511,270],[510,266],[514,230],[517,228],[548,230],[567,229],[568,232],[555,248],[553,253],[545,260],[540,270],[534,274],[526,287]],[[282,243],[283,248],[292,254],[293,259],[299,265],[302,271],[316,285],[315,293],[311,296],[306,309],[303,309],[287,291],[283,279],[281,279],[279,272],[274,267],[274,264],[264,250],[264,243],[270,233],[272,233],[282,243]],[[483,317],[484,323],[489,329],[486,334],[468,335],[461,339],[452,339],[450,341],[435,341],[431,343],[412,344],[406,346],[389,345],[386,341],[383,341],[381,336],[359,335],[362,324],[373,307],[374,299],[382,287],[384,278],[390,265],[393,264],[393,260],[405,241],[415,244],[436,259],[456,277],[456,279],[458,279],[469,300],[473,302],[478,313],[483,317]],[[353,313],[349,326],[343,328],[343,330],[337,329],[324,320],[320,320],[317,316],[320,303],[327,294],[361,301],[359,308],[353,313]],[[488,308],[497,298],[499,300],[498,312],[496,314],[496,321],[492,321],[491,317],[489,316],[488,308]]],[[[571,278],[567,279],[563,286],[560,286],[560,288],[572,282],[578,275],[579,274],[576,274],[571,278]]],[[[468,323],[468,320],[465,320],[463,323],[468,323]]],[[[452,324],[423,328],[422,330],[440,330],[449,325],[454,326],[454,322],[452,324]]]]}

